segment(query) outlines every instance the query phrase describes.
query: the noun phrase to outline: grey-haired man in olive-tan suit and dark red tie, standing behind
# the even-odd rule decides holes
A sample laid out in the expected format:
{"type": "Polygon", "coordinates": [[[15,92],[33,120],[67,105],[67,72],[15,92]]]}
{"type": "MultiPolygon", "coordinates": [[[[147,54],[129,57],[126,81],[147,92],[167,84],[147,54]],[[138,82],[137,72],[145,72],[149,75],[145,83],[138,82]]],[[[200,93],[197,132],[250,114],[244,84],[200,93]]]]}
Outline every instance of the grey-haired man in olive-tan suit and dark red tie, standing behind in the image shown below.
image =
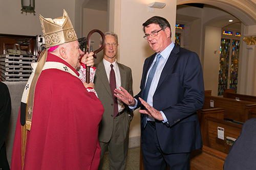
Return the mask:
{"type": "Polygon", "coordinates": [[[105,109],[99,124],[99,143],[101,147],[99,169],[102,168],[106,150],[109,151],[110,169],[124,169],[133,112],[121,100],[117,100],[113,91],[115,88],[119,89],[122,86],[133,95],[132,70],[116,62],[116,53],[119,46],[117,35],[113,32],[106,32],[105,38],[106,45],[103,49],[103,60],[95,65],[97,69],[94,79],[95,90],[105,109]]]}

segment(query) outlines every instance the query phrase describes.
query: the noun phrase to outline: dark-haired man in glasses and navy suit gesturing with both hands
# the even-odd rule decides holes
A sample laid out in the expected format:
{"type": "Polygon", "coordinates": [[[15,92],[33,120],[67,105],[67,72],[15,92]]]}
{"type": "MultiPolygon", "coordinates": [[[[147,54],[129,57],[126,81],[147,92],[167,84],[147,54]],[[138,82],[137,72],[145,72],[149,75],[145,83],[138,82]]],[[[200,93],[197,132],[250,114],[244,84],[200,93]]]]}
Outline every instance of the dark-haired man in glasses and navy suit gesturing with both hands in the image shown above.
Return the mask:
{"type": "Polygon", "coordinates": [[[170,169],[189,169],[190,152],[202,148],[197,110],[204,104],[204,82],[199,57],[171,41],[165,18],[148,19],[143,31],[156,53],[144,62],[141,91],[133,98],[120,87],[115,95],[133,110],[141,107],[145,169],[166,169],[167,164],[170,169]]]}

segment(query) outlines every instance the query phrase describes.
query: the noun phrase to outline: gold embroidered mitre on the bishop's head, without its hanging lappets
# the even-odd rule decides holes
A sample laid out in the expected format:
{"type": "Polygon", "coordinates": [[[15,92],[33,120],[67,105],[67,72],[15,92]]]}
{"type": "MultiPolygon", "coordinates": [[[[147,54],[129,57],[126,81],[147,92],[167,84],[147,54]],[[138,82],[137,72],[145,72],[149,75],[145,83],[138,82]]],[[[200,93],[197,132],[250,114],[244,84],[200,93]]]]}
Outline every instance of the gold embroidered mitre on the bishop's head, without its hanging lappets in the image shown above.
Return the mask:
{"type": "Polygon", "coordinates": [[[47,48],[77,40],[75,30],[65,9],[63,9],[63,16],[61,17],[44,18],[39,14],[39,18],[47,48]]]}

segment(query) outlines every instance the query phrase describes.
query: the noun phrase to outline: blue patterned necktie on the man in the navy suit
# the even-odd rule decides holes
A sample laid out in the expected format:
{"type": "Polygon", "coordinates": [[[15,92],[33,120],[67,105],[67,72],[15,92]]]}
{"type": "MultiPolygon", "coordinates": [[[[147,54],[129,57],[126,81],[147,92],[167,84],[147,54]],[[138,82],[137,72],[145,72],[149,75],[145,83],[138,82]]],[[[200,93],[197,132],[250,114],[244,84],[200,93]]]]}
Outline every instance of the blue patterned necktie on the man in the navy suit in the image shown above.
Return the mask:
{"type": "MultiPolygon", "coordinates": [[[[150,70],[150,73],[148,74],[148,77],[147,77],[147,81],[146,81],[146,87],[144,89],[144,95],[143,95],[143,100],[144,101],[147,101],[147,96],[148,96],[148,91],[150,91],[150,86],[151,86],[151,83],[152,83],[152,80],[155,76],[155,72],[156,72],[156,69],[157,69],[157,65],[159,63],[159,59],[161,58],[161,54],[159,53],[157,55],[157,60],[156,62],[154,63],[153,67],[151,68],[150,70]]],[[[143,117],[142,117],[142,123],[143,123],[143,127],[145,128],[146,126],[146,122],[147,122],[147,114],[143,114],[143,117]]]]}

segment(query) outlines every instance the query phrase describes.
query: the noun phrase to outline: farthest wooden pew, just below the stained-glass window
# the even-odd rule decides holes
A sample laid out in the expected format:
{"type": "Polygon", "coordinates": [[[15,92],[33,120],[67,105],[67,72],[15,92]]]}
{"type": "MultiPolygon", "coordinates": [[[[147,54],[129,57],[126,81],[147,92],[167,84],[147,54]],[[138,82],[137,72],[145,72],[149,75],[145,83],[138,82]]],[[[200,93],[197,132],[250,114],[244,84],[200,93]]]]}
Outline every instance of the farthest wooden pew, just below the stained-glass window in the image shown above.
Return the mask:
{"type": "Polygon", "coordinates": [[[223,98],[256,103],[256,96],[254,96],[254,95],[245,95],[245,94],[237,94],[237,93],[234,93],[233,89],[225,89],[224,93],[223,93],[223,98]]]}

